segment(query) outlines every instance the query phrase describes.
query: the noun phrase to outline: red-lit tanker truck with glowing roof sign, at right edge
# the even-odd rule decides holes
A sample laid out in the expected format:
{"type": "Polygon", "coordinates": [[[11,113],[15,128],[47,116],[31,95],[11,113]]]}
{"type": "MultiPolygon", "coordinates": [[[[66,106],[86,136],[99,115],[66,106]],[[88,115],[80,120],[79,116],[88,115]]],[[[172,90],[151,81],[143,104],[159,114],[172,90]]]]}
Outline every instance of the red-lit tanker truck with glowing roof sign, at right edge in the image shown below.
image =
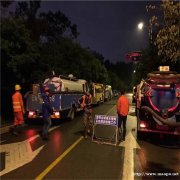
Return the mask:
{"type": "Polygon", "coordinates": [[[137,139],[146,134],[180,135],[180,74],[160,67],[137,85],[137,139]]]}

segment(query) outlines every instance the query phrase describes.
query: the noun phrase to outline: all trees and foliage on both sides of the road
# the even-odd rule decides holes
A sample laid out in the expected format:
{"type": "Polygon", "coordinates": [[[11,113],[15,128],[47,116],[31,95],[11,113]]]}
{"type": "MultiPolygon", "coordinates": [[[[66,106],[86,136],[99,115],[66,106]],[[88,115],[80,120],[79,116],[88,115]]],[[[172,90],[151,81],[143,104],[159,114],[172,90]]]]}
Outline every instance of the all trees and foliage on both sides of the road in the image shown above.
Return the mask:
{"type": "MultiPolygon", "coordinates": [[[[2,117],[12,117],[11,95],[15,84],[21,84],[25,94],[33,83],[42,82],[52,71],[111,84],[117,90],[126,87],[128,91],[159,65],[170,65],[171,70],[178,71],[179,2],[163,1],[159,8],[162,14],[156,18],[152,15],[150,20],[154,43],[142,50],[142,61],[125,63],[120,57],[120,62],[113,64],[78,43],[81,32],[60,10],[41,12],[41,1],[1,1],[2,117]],[[9,7],[14,3],[16,8],[10,12],[9,7]],[[158,18],[162,17],[163,24],[157,26],[158,18]]],[[[149,7],[156,12],[159,8],[149,7]]]]}

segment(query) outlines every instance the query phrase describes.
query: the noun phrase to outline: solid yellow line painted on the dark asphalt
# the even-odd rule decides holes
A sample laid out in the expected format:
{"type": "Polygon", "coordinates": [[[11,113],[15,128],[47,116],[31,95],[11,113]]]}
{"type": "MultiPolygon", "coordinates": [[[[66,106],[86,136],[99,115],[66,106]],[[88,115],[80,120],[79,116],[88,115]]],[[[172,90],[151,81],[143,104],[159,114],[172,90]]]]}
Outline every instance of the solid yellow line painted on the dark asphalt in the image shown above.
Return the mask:
{"type": "Polygon", "coordinates": [[[61,154],[54,162],[52,162],[39,176],[35,178],[35,180],[40,180],[48,174],[51,169],[53,169],[77,144],[83,139],[84,137],[81,136],[75,143],[73,143],[63,154],[61,154]]]}

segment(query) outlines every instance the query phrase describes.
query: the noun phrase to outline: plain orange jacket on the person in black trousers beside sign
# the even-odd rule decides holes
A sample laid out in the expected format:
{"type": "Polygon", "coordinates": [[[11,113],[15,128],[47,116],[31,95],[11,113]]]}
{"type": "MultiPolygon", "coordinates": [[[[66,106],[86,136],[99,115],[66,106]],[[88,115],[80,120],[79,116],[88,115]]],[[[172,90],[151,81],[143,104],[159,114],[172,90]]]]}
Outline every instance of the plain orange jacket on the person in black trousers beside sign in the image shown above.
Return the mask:
{"type": "Polygon", "coordinates": [[[127,116],[129,112],[129,100],[125,95],[122,95],[118,99],[117,113],[122,116],[127,116]]]}

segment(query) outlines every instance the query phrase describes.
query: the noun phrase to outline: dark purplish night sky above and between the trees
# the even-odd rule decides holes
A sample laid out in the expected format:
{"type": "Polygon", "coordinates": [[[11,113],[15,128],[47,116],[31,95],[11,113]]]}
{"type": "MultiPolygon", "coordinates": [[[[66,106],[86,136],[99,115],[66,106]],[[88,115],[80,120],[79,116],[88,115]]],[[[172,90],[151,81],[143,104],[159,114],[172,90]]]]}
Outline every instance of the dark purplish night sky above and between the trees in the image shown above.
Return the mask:
{"type": "Polygon", "coordinates": [[[77,25],[83,47],[115,63],[125,61],[127,52],[147,47],[148,30],[139,31],[137,24],[148,25],[153,14],[146,12],[146,5],[155,3],[160,1],[42,1],[39,12],[63,12],[77,25]]]}

